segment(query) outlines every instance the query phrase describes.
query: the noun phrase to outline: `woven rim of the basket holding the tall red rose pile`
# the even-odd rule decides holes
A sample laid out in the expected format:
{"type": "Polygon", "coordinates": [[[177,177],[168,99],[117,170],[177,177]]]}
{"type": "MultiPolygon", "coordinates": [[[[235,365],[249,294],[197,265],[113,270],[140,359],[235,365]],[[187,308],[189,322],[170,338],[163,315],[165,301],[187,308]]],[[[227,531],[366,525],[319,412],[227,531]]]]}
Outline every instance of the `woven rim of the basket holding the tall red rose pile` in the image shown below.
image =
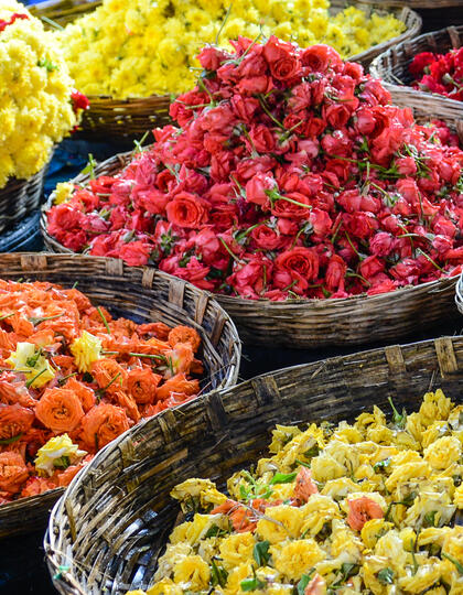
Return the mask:
{"type": "MultiPolygon", "coordinates": [[[[121,166],[120,171],[122,171],[128,165],[127,160],[130,158],[131,154],[132,154],[132,152],[129,151],[127,153],[118,153],[116,155],[112,155],[111,158],[98,163],[97,167],[95,169],[95,173],[97,173],[98,175],[100,175],[100,174],[104,175],[105,171],[107,171],[108,166],[110,166],[112,164],[116,164],[117,162],[119,162],[119,164],[121,166]]],[[[69,183],[71,184],[83,184],[88,180],[89,180],[88,174],[78,174],[76,177],[71,180],[69,183]]],[[[40,227],[41,227],[41,231],[42,231],[43,237],[46,239],[46,241],[50,245],[52,245],[54,248],[61,250],[63,253],[85,256],[85,255],[79,255],[78,252],[73,252],[72,250],[69,250],[68,248],[65,248],[62,244],[60,244],[55,238],[50,236],[50,234],[47,231],[47,226],[46,226],[46,224],[47,224],[46,215],[47,215],[47,212],[53,206],[54,196],[55,196],[55,192],[53,192],[50,195],[47,202],[42,207],[40,227]]],[[[95,257],[89,257],[89,258],[95,258],[95,257]]],[[[105,258],[105,257],[101,257],[101,258],[105,258]]],[[[119,260],[119,259],[112,259],[111,258],[110,260],[119,260]]],[[[154,268],[157,271],[159,271],[159,269],[157,267],[152,267],[152,268],[154,268]]],[[[405,288],[398,288],[398,289],[396,289],[394,291],[389,291],[389,292],[386,292],[386,293],[379,293],[379,294],[376,294],[376,295],[359,294],[359,295],[351,295],[348,298],[334,298],[334,299],[332,299],[332,298],[327,298],[327,299],[312,298],[312,299],[303,299],[303,300],[293,300],[293,299],[291,299],[291,300],[284,300],[284,301],[281,301],[281,302],[276,302],[276,301],[268,300],[268,299],[250,300],[250,299],[247,299],[247,298],[234,296],[234,295],[223,295],[220,293],[214,293],[214,292],[208,292],[208,293],[211,293],[211,295],[213,295],[215,300],[217,300],[218,302],[223,302],[223,303],[227,303],[227,302],[234,303],[234,304],[244,303],[246,305],[251,305],[251,304],[262,305],[262,304],[266,304],[266,306],[273,307],[273,309],[281,309],[284,305],[291,305],[292,307],[299,306],[299,307],[302,307],[302,309],[306,307],[308,305],[315,306],[315,307],[326,307],[327,304],[333,304],[334,307],[336,307],[336,306],[341,307],[341,306],[343,306],[345,304],[352,304],[352,303],[358,303],[359,305],[362,305],[366,300],[368,300],[368,303],[373,303],[375,301],[376,302],[381,302],[385,299],[389,299],[389,298],[391,298],[394,295],[402,295],[405,292],[408,292],[410,295],[412,295],[413,293],[417,293],[417,292],[428,291],[428,290],[439,292],[440,288],[448,286],[449,284],[454,283],[456,278],[457,278],[457,275],[443,277],[443,278],[437,279],[434,281],[428,281],[426,283],[420,283],[419,285],[407,285],[405,288]]]]}

